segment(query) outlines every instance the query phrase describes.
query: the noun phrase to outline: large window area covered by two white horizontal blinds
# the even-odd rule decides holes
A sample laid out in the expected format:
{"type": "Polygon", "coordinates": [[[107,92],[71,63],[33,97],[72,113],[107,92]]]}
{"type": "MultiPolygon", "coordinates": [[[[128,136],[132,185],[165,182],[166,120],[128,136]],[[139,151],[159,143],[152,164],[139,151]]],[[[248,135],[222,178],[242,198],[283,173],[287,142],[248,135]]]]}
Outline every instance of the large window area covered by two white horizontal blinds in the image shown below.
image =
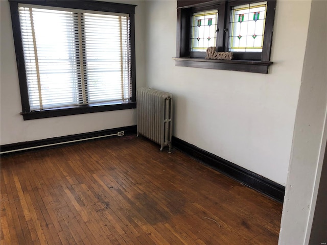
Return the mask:
{"type": "Polygon", "coordinates": [[[19,7],[30,111],[131,99],[128,14],[19,7]]]}

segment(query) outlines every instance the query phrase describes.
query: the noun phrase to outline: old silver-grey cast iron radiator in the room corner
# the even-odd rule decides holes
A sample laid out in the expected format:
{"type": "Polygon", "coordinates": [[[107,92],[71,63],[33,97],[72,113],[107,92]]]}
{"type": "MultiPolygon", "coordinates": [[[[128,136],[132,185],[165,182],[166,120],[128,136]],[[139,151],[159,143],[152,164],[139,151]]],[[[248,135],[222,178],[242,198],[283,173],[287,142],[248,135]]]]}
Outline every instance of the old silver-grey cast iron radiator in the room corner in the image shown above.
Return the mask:
{"type": "Polygon", "coordinates": [[[137,135],[160,144],[160,151],[165,146],[171,150],[172,100],[171,93],[146,87],[136,90],[137,135]]]}

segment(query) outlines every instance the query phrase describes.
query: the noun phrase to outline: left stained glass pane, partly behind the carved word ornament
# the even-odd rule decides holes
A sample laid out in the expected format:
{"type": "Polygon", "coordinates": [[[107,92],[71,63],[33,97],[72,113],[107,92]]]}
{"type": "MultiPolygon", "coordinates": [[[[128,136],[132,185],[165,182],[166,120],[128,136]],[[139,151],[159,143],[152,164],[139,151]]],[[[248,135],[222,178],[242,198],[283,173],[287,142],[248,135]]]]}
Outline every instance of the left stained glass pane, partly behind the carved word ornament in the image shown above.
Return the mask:
{"type": "Polygon", "coordinates": [[[218,11],[193,13],[191,24],[191,51],[206,51],[216,46],[218,11]]]}

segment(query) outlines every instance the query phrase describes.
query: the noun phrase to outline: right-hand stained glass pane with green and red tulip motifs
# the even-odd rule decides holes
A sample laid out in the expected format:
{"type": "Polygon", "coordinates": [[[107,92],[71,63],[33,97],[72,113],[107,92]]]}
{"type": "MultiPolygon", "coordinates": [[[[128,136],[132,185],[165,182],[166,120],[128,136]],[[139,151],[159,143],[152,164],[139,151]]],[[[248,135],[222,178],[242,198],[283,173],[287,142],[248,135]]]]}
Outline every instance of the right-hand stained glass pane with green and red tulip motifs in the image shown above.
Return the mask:
{"type": "Polygon", "coordinates": [[[231,52],[262,52],[267,2],[232,7],[229,26],[231,52]]]}

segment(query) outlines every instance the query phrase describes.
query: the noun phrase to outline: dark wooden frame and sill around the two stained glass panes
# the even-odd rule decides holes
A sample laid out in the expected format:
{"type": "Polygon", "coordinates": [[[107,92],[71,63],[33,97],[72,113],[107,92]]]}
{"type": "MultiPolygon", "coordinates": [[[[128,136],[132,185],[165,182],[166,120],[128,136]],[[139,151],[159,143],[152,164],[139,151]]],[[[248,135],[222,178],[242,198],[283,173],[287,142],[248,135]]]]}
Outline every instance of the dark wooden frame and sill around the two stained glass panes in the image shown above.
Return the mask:
{"type": "Polygon", "coordinates": [[[176,66],[237,70],[267,74],[272,64],[270,61],[273,23],[275,16],[276,0],[268,0],[266,24],[264,33],[263,51],[260,52],[233,52],[232,60],[206,60],[205,52],[190,51],[190,24],[192,13],[218,9],[219,21],[217,31],[217,52],[228,51],[228,28],[230,10],[233,6],[262,2],[260,1],[177,1],[177,44],[176,66]]]}

